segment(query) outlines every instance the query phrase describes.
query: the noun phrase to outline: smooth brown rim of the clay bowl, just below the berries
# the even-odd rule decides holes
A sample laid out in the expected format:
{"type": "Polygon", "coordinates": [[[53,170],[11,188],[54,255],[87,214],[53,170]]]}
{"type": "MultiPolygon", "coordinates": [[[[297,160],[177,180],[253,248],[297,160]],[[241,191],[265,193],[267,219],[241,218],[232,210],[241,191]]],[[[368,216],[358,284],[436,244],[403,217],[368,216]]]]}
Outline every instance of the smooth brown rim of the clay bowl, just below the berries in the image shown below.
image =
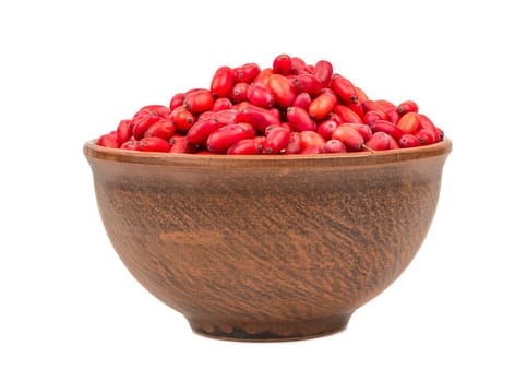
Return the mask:
{"type": "Polygon", "coordinates": [[[395,148],[386,151],[367,151],[355,153],[327,154],[187,154],[187,153],[157,153],[137,152],[122,148],[104,147],[97,144],[98,139],[86,141],[83,153],[87,159],[106,162],[158,165],[158,166],[370,166],[390,163],[402,163],[429,157],[446,156],[452,151],[452,141],[444,138],[442,141],[418,147],[395,148]]]}

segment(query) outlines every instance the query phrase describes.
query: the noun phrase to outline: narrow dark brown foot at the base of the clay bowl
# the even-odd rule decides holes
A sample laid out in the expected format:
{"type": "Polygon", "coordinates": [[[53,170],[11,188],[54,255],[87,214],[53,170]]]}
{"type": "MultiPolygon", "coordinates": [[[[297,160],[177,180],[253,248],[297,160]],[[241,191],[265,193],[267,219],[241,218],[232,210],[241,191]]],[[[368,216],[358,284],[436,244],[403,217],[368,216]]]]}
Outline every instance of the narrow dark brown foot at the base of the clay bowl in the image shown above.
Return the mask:
{"type": "Polygon", "coordinates": [[[212,322],[189,319],[194,333],[227,341],[285,342],[331,335],[344,331],[352,313],[289,322],[212,322]]]}

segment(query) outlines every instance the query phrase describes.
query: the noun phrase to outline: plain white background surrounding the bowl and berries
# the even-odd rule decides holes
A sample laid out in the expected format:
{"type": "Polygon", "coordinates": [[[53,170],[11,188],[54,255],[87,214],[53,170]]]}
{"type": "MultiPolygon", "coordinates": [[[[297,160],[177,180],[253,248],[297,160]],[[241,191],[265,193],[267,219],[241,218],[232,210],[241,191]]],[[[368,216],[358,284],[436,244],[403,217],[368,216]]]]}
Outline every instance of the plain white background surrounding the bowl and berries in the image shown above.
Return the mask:
{"type": "Polygon", "coordinates": [[[514,381],[510,1],[2,1],[0,381],[514,381]],[[336,9],[336,4],[338,8],[336,9]],[[347,331],[193,334],[106,235],[82,154],[221,64],[330,60],[453,140],[418,255],[347,331]]]}

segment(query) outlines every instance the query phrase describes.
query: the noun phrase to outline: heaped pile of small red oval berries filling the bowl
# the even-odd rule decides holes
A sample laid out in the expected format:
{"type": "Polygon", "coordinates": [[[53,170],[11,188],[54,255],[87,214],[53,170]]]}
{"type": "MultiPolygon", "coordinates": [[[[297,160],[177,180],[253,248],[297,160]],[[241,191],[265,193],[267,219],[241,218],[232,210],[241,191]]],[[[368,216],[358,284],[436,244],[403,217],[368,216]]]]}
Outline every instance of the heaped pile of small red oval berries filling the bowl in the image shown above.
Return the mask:
{"type": "Polygon", "coordinates": [[[370,99],[326,60],[277,56],[272,65],[220,67],[209,88],[141,108],[101,135],[106,147],[196,154],[323,154],[439,142],[414,100],[370,99]]]}

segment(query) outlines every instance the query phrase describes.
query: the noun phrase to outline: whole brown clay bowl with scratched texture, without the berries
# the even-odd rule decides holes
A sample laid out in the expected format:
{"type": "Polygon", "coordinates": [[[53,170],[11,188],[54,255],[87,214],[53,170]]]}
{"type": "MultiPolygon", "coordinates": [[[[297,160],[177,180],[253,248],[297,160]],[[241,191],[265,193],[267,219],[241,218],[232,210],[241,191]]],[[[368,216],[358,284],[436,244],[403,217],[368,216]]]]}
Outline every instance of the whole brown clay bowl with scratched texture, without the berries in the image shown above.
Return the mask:
{"type": "Polygon", "coordinates": [[[196,333],[338,332],[407,267],[433,218],[450,140],[378,153],[151,154],[86,142],[119,256],[196,333]]]}

